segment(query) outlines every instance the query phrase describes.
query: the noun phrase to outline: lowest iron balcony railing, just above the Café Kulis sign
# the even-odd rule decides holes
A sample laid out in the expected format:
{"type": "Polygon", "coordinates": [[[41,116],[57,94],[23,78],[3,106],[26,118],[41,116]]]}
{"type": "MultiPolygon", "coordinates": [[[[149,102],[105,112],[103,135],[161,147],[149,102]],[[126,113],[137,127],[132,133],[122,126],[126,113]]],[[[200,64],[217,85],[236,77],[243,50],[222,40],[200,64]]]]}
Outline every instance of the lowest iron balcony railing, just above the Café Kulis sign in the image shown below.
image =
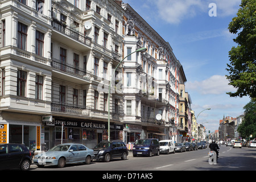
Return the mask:
{"type": "Polygon", "coordinates": [[[79,115],[90,115],[90,109],[86,109],[84,106],[69,105],[65,103],[52,102],[51,111],[56,113],[67,113],[67,114],[79,114],[79,115]]]}

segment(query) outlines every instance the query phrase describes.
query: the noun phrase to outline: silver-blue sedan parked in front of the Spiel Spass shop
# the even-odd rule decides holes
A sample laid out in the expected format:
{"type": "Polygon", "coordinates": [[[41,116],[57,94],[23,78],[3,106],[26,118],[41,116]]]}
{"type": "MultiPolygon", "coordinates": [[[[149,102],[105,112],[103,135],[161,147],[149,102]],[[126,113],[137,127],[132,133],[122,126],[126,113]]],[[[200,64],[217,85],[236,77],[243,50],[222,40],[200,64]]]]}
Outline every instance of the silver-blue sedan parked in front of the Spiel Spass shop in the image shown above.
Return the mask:
{"type": "Polygon", "coordinates": [[[38,167],[57,166],[65,167],[65,164],[85,163],[93,160],[93,150],[79,143],[59,144],[47,152],[35,155],[34,164],[38,167]]]}

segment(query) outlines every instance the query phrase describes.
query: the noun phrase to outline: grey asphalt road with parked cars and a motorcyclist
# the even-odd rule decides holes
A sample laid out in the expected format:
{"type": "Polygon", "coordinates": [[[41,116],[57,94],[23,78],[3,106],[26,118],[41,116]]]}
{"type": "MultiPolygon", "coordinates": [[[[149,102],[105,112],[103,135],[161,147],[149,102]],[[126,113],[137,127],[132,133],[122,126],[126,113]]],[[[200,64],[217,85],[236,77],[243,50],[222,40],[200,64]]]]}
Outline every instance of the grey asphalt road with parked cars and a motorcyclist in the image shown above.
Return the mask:
{"type": "MultiPolygon", "coordinates": [[[[112,159],[109,163],[93,162],[86,164],[72,164],[64,168],[46,166],[38,168],[31,165],[30,171],[255,171],[256,148],[232,148],[220,146],[219,159],[216,165],[208,163],[209,148],[197,151],[176,152],[175,154],[161,154],[159,156],[137,156],[129,152],[127,160],[112,159]]],[[[94,172],[95,173],[95,172],[94,172]]],[[[132,176],[130,176],[132,177],[132,176]]]]}

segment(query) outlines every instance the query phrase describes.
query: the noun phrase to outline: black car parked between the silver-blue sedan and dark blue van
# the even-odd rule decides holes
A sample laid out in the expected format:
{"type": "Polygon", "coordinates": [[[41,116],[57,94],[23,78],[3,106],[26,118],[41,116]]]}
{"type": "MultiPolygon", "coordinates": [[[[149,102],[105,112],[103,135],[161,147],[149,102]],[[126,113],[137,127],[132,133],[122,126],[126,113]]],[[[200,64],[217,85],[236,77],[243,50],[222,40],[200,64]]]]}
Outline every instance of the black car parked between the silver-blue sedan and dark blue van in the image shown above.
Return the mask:
{"type": "Polygon", "coordinates": [[[93,148],[96,160],[104,160],[109,162],[112,158],[127,159],[128,150],[126,144],[122,141],[102,141],[93,148]]]}

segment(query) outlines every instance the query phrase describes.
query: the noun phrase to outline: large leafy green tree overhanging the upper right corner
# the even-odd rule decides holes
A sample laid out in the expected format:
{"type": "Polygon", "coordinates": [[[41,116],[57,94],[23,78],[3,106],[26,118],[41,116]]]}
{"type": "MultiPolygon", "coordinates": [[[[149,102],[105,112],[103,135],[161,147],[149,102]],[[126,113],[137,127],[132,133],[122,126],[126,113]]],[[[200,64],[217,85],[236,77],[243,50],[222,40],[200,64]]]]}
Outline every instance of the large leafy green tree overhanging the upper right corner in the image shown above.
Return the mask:
{"type": "Polygon", "coordinates": [[[229,32],[237,34],[237,47],[229,51],[226,70],[229,85],[237,89],[230,97],[250,96],[256,100],[256,0],[242,0],[237,16],[229,23],[229,32]]]}

